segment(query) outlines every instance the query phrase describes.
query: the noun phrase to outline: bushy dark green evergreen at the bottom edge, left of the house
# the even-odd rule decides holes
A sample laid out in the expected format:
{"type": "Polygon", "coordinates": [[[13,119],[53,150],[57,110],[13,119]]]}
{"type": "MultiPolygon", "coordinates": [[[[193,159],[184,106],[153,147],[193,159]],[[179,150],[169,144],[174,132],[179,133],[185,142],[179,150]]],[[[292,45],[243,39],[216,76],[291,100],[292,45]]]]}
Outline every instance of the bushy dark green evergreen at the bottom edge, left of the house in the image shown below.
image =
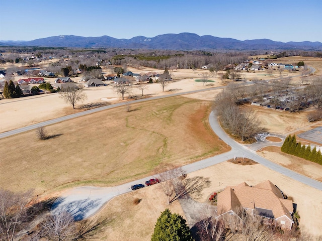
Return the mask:
{"type": "Polygon", "coordinates": [[[151,241],[193,241],[186,220],[167,208],[157,218],[151,241]]]}

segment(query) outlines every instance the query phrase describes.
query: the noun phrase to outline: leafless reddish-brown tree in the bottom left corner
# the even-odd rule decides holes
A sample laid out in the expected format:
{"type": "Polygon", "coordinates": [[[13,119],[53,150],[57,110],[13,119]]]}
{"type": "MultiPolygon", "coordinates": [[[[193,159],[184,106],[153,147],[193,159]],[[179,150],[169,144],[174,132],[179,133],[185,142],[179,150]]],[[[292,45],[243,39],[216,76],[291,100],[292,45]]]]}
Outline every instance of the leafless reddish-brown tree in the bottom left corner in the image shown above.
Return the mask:
{"type": "Polygon", "coordinates": [[[31,194],[31,191],[17,194],[0,189],[0,240],[14,240],[16,232],[26,221],[26,205],[30,202],[31,194]]]}

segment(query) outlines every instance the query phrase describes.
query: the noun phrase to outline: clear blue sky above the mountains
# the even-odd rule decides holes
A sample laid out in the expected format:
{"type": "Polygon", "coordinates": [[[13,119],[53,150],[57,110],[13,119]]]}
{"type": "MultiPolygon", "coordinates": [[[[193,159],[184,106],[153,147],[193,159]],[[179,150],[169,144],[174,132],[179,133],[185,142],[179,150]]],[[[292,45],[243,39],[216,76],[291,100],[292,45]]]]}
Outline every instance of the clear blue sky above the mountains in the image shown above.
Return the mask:
{"type": "Polygon", "coordinates": [[[322,42],[322,1],[1,0],[0,40],[58,35],[200,36],[322,42]]]}

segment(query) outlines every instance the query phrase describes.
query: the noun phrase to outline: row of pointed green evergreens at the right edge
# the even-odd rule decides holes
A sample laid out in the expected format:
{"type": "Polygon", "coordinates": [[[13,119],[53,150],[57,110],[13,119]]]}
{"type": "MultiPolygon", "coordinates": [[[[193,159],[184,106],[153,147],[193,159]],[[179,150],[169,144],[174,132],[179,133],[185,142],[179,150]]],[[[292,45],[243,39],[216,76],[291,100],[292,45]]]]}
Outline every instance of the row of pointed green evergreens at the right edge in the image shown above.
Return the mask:
{"type": "Polygon", "coordinates": [[[295,135],[287,136],[281,147],[281,151],[322,165],[321,151],[316,151],[315,146],[311,148],[310,145],[305,147],[305,145],[302,145],[300,142],[297,143],[295,135]]]}

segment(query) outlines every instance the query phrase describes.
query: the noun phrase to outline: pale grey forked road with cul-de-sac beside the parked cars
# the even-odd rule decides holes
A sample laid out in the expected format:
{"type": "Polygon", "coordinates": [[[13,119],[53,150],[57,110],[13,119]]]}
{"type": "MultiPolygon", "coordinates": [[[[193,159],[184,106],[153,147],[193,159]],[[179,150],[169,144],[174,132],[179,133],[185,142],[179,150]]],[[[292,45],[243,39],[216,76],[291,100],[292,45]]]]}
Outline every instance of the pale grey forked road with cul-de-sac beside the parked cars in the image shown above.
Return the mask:
{"type": "MultiPolygon", "coordinates": [[[[247,146],[233,141],[219,126],[214,112],[211,112],[209,116],[209,123],[217,136],[231,147],[231,151],[183,166],[182,169],[186,173],[191,173],[203,168],[207,168],[220,162],[232,159],[233,157],[245,156],[274,171],[293,178],[294,180],[302,182],[318,190],[322,190],[322,182],[316,181],[314,179],[293,172],[287,168],[281,167],[278,164],[275,164],[257,155],[255,151],[250,150],[247,146]]],[[[98,212],[104,206],[104,204],[111,200],[113,197],[132,191],[130,189],[131,185],[144,183],[150,178],[154,177],[150,176],[108,188],[91,186],[74,188],[63,193],[59,198],[55,200],[52,206],[52,212],[55,212],[56,210],[66,209],[72,215],[74,215],[77,220],[88,218],[98,212]]]]}

